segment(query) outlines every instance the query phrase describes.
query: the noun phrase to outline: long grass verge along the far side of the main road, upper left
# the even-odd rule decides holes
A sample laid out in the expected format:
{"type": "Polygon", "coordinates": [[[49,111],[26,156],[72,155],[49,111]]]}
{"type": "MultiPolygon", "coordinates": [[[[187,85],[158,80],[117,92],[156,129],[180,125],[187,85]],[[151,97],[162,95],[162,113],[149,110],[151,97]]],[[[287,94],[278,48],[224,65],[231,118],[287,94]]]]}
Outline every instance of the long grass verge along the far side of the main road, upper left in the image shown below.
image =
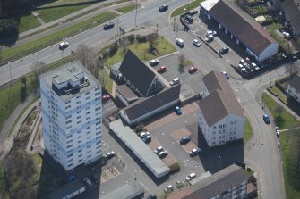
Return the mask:
{"type": "MultiPolygon", "coordinates": [[[[89,20],[81,21],[80,23],[77,23],[71,27],[62,29],[60,31],[57,31],[57,32],[47,35],[45,37],[41,37],[37,40],[31,41],[24,45],[5,49],[5,50],[1,51],[1,53],[0,53],[1,60],[5,60],[9,57],[13,57],[13,55],[16,55],[16,54],[24,54],[25,55],[26,52],[29,52],[29,51],[30,51],[30,53],[37,52],[40,49],[43,49],[47,46],[51,46],[51,45],[58,43],[61,40],[61,38],[65,35],[69,35],[69,36],[75,35],[76,33],[78,33],[79,29],[82,29],[82,30],[91,29],[91,28],[99,25],[99,23],[91,24],[92,21],[100,21],[101,23],[104,23],[105,21],[110,21],[112,19],[115,19],[116,16],[118,16],[118,15],[114,12],[103,12],[103,13],[99,14],[98,16],[90,18],[89,20]],[[87,27],[87,24],[89,24],[89,23],[90,23],[90,26],[87,27]]],[[[57,49],[58,49],[58,47],[57,47],[57,49]]],[[[28,54],[30,54],[30,53],[28,53],[28,54]]]]}

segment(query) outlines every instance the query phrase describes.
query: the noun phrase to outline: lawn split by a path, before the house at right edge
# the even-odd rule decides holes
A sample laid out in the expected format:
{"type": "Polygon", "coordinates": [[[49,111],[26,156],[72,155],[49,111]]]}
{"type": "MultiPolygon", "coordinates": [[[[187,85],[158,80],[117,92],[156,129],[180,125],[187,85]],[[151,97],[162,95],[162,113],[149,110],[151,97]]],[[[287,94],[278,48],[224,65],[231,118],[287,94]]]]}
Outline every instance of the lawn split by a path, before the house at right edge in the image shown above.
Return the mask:
{"type": "Polygon", "coordinates": [[[264,104],[268,106],[274,117],[276,126],[278,126],[279,129],[289,129],[294,127],[294,125],[300,126],[300,121],[296,120],[296,118],[287,112],[286,109],[282,109],[281,112],[278,112],[279,104],[277,104],[269,95],[263,94],[262,100],[264,104]]]}

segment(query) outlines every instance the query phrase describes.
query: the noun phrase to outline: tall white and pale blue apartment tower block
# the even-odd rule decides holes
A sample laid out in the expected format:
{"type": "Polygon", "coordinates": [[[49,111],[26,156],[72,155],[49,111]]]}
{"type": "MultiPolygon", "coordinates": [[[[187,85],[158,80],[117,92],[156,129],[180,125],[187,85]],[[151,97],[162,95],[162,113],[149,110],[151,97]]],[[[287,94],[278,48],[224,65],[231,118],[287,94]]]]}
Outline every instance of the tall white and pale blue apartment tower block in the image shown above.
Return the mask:
{"type": "Polygon", "coordinates": [[[45,150],[64,170],[102,157],[101,85],[81,62],[41,75],[45,150]]]}

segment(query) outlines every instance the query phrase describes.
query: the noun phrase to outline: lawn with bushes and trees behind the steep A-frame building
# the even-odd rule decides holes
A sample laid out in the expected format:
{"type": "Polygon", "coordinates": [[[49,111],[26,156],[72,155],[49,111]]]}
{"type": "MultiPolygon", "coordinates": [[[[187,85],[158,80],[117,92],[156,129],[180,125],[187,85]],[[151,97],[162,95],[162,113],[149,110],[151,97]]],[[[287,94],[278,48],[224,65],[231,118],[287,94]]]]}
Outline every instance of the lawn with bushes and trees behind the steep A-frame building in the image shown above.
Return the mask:
{"type": "MultiPolygon", "coordinates": [[[[132,45],[129,45],[128,48],[133,51],[135,55],[137,55],[141,60],[148,61],[151,59],[156,58],[155,55],[150,54],[149,49],[149,43],[137,43],[135,42],[132,45]]],[[[158,38],[158,45],[157,49],[159,50],[159,56],[170,54],[176,51],[176,48],[172,46],[170,43],[167,42],[163,37],[158,38]]],[[[113,57],[109,57],[106,62],[104,62],[104,65],[107,67],[107,69],[110,68],[110,66],[116,62],[121,62],[124,58],[124,48],[120,47],[116,54],[113,57]]]]}

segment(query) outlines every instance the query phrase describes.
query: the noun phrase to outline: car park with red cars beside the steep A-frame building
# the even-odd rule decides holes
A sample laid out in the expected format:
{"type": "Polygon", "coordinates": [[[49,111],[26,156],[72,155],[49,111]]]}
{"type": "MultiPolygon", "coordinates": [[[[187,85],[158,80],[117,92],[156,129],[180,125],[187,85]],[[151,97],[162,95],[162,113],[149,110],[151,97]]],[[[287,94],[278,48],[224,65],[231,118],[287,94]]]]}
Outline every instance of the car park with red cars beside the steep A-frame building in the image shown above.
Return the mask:
{"type": "MultiPolygon", "coordinates": [[[[170,82],[172,79],[179,78],[181,83],[180,94],[184,99],[190,98],[193,95],[201,93],[201,82],[203,74],[197,70],[193,74],[188,72],[190,66],[181,69],[179,66],[179,54],[172,54],[170,56],[159,59],[159,64],[154,66],[155,70],[159,69],[160,66],[167,66],[167,70],[161,73],[161,77],[170,82]]],[[[169,86],[169,85],[167,85],[169,86]]]]}

